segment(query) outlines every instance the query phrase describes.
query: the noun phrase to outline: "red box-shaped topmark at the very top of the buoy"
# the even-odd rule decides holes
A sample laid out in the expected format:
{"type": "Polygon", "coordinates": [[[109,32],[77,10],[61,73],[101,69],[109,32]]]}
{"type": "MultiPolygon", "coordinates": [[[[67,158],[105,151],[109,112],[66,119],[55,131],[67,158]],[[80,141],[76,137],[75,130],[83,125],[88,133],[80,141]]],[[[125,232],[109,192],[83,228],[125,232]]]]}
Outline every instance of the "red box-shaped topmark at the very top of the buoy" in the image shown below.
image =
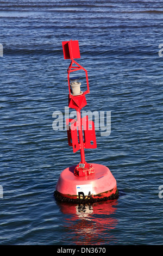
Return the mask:
{"type": "Polygon", "coordinates": [[[62,47],[64,51],[64,59],[79,59],[80,58],[80,50],[79,50],[79,42],[76,41],[64,41],[62,42],[62,47]]]}

